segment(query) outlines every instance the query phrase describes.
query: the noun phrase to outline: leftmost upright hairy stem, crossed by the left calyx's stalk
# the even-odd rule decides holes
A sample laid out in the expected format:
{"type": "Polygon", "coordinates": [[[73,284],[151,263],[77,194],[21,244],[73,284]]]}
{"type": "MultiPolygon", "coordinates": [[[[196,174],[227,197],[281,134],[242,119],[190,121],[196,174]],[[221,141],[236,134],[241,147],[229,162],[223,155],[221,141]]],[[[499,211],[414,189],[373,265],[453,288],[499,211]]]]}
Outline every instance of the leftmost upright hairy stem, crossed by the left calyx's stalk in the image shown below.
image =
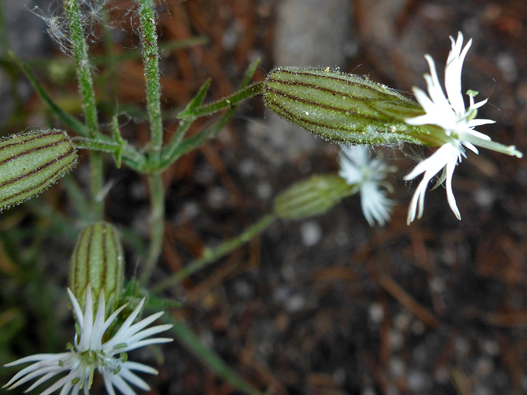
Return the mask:
{"type": "MultiPolygon", "coordinates": [[[[93,79],[86,40],[84,39],[83,16],[79,9],[77,0],[64,0],[64,11],[70,27],[70,40],[76,61],[77,82],[82,96],[84,116],[88,128],[88,136],[92,139],[99,134],[99,121],[97,120],[97,107],[95,105],[95,92],[93,90],[93,79]]],[[[103,184],[103,163],[101,154],[91,152],[91,177],[90,191],[94,217],[102,219],[104,205],[101,196],[103,184]]]]}

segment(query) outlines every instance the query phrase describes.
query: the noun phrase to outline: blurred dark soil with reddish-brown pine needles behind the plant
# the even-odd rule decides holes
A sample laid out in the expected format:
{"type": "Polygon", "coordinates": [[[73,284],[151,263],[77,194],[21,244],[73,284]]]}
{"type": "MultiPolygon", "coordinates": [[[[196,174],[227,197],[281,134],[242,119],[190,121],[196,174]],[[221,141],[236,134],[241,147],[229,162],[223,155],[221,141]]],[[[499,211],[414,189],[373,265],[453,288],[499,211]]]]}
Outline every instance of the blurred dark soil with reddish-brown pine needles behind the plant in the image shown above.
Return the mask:
{"type": "MultiPolygon", "coordinates": [[[[65,58],[46,38],[40,18],[4,3],[17,54],[27,61],[65,58]]],[[[138,48],[132,28],[138,21],[127,11],[132,5],[122,0],[110,5],[114,53],[138,48]]],[[[41,9],[48,8],[41,4],[41,9]]],[[[203,45],[163,51],[161,100],[167,114],[177,114],[209,77],[207,101],[236,91],[256,57],[262,62],[253,81],[276,65],[339,66],[409,93],[414,85],[425,87],[423,55],[432,55],[441,71],[448,36],[461,31],[473,39],[463,89],[479,91],[480,100],[489,97],[478,116],[496,121],[478,129],[527,152],[527,3],[522,0],[164,0],[158,11],[161,44],[208,37],[203,45]]],[[[91,53],[102,54],[103,29],[96,24],[92,29],[91,53]]],[[[57,64],[38,69],[38,76],[58,103],[80,114],[74,74],[57,64]]],[[[96,73],[103,75],[105,67],[96,73]]],[[[119,63],[114,75],[115,81],[97,84],[103,127],[110,120],[104,110],[112,104],[110,93],[116,92],[119,103],[144,105],[141,60],[119,63]]],[[[4,76],[0,97],[4,134],[64,127],[44,111],[23,77],[4,76]],[[9,88],[9,81],[16,83],[9,88]]],[[[123,111],[120,121],[125,139],[147,141],[148,124],[140,115],[123,111]]],[[[210,123],[201,118],[189,134],[210,123]]],[[[167,116],[167,140],[177,125],[167,116]]],[[[164,173],[167,224],[152,284],[206,246],[238,235],[271,210],[273,197],[291,183],[338,171],[339,151],[338,145],[273,119],[258,97],[244,102],[216,139],[164,173]]],[[[416,182],[402,177],[415,164],[411,157],[431,152],[412,146],[384,150],[398,167],[391,180],[398,204],[386,226],[368,226],[358,196],[323,216],[277,221],[168,290],[165,297],[182,302],[173,314],[269,395],[527,392],[527,162],[486,150],[468,153],[453,179],[462,220],[455,219],[438,188],[427,192],[423,218],[407,226],[416,182]]],[[[83,188],[89,180],[85,156],[73,172],[83,188]]],[[[147,241],[145,180],[126,167],[115,169],[110,159],[106,180],[106,219],[147,241]]],[[[53,216],[42,216],[49,207],[74,218],[63,189],[60,182],[36,204],[0,214],[4,249],[9,232],[19,235],[23,251],[33,251],[27,229],[48,231],[38,239],[40,253],[33,254],[29,280],[13,274],[18,262],[0,255],[0,308],[22,317],[9,342],[0,340],[2,363],[29,351],[59,352],[71,337],[64,288],[75,234],[54,235],[53,216]],[[51,323],[45,309],[54,314],[51,323]]],[[[141,265],[138,245],[125,245],[129,278],[141,265]]],[[[155,358],[151,350],[135,354],[134,360],[159,363],[159,376],[149,378],[152,394],[238,393],[177,341],[161,350],[155,358]]]]}

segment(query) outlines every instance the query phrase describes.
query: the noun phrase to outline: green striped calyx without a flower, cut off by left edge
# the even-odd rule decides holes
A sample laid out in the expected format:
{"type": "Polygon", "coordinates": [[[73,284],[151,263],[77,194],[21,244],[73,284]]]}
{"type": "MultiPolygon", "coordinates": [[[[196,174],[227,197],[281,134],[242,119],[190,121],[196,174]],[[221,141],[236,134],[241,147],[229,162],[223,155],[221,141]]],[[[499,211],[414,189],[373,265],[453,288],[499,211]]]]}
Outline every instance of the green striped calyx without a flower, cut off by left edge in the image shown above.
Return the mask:
{"type": "Polygon", "coordinates": [[[0,140],[0,211],[42,192],[76,164],[75,147],[60,130],[0,140]]]}

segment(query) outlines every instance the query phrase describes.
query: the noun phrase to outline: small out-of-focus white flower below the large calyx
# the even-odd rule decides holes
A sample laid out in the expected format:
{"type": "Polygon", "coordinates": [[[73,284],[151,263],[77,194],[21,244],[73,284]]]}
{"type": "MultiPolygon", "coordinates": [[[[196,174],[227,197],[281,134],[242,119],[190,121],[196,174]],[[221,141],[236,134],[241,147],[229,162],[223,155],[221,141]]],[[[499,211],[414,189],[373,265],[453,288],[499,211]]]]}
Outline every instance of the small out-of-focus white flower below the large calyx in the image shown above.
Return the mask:
{"type": "Polygon", "coordinates": [[[360,205],[370,226],[384,225],[390,219],[393,201],[385,196],[380,186],[391,189],[384,181],[388,169],[378,157],[370,157],[368,147],[362,145],[342,145],[339,156],[338,175],[348,184],[357,185],[360,192],[360,205]]]}

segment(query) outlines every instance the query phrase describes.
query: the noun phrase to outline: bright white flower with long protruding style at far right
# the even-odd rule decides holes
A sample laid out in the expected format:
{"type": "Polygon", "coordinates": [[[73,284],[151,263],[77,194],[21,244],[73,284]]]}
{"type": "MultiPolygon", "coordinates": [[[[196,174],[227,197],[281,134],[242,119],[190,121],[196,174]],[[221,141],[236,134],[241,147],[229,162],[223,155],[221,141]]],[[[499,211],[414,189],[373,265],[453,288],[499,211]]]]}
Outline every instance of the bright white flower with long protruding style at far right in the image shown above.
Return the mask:
{"type": "Polygon", "coordinates": [[[457,209],[454,194],[452,192],[452,174],[455,166],[461,162],[462,157],[466,157],[465,148],[478,153],[475,145],[501,152],[508,155],[522,157],[522,153],[517,151],[513,145],[505,146],[491,141],[486,134],[476,132],[474,127],[494,123],[492,120],[476,119],[477,108],[487,102],[487,99],[474,103],[474,96],[477,92],[468,91],[469,107],[465,108],[463,94],[461,93],[461,69],[467,51],[469,51],[472,39],[463,47],[463,34],[457,34],[457,40],[451,36],[452,49],[448,54],[445,66],[445,90],[439,83],[435,70],[434,60],[430,55],[425,55],[426,61],[430,66],[430,74],[425,74],[424,78],[428,88],[428,95],[418,87],[413,88],[415,98],[423,107],[424,115],[408,118],[405,122],[409,125],[437,125],[444,130],[446,139],[450,141],[443,144],[432,156],[417,164],[404,179],[412,180],[419,174],[424,173],[423,179],[417,186],[410,207],[408,209],[407,223],[410,224],[417,214],[421,218],[424,208],[424,198],[428,183],[440,171],[443,173],[436,186],[446,181],[446,196],[450,208],[458,220],[461,219],[457,209]]]}

